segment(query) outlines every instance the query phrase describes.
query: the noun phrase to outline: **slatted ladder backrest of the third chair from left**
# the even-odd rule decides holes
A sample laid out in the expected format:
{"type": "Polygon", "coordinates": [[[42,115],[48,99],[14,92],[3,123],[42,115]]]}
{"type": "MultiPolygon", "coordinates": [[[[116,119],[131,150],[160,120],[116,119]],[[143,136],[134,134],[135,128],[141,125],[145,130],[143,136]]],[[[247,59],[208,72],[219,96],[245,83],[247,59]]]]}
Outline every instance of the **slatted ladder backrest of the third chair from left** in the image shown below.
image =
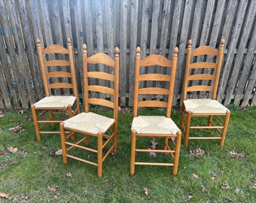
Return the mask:
{"type": "Polygon", "coordinates": [[[172,61],[158,54],[149,55],[141,60],[140,47],[137,47],[133,117],[137,117],[138,108],[142,107],[166,108],[166,117],[171,117],[177,59],[177,47],[172,61]],[[145,67],[148,71],[142,72],[145,67]]]}

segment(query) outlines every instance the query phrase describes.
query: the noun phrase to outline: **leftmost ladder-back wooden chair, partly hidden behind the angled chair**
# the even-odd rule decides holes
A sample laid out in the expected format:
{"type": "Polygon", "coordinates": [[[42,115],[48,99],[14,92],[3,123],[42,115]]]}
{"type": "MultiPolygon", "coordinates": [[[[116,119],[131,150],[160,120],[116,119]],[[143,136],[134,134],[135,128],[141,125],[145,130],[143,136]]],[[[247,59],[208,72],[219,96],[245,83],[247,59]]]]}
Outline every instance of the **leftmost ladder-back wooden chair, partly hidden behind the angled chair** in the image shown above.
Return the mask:
{"type": "Polygon", "coordinates": [[[41,141],[42,134],[59,133],[59,130],[49,130],[49,125],[58,123],[59,127],[66,115],[73,117],[79,114],[79,98],[71,40],[68,38],[67,49],[58,44],[42,49],[39,39],[37,44],[45,97],[33,104],[31,109],[36,137],[41,141]]]}

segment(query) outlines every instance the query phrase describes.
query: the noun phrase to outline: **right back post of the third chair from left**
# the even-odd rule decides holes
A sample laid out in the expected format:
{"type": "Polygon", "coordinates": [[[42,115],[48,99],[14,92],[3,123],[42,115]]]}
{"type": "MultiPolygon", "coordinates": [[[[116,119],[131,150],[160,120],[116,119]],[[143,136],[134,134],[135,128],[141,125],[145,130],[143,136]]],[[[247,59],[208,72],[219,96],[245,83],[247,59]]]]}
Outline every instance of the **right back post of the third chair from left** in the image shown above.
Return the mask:
{"type": "Polygon", "coordinates": [[[168,106],[166,110],[166,117],[171,117],[172,112],[172,98],[173,98],[173,89],[175,84],[175,75],[176,75],[176,69],[177,69],[177,60],[178,60],[178,47],[175,47],[173,58],[172,58],[172,72],[171,77],[169,81],[169,95],[168,95],[168,106]]]}

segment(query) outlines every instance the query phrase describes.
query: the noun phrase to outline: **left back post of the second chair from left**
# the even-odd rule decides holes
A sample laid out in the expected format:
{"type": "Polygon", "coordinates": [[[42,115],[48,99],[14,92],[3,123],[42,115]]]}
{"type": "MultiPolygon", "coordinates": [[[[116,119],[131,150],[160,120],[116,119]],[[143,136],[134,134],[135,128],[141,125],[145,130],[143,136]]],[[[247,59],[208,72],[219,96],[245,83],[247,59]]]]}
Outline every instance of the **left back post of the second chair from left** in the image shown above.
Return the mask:
{"type": "Polygon", "coordinates": [[[87,45],[83,44],[83,65],[84,65],[84,111],[89,112],[89,89],[88,89],[88,65],[87,65],[87,45]]]}

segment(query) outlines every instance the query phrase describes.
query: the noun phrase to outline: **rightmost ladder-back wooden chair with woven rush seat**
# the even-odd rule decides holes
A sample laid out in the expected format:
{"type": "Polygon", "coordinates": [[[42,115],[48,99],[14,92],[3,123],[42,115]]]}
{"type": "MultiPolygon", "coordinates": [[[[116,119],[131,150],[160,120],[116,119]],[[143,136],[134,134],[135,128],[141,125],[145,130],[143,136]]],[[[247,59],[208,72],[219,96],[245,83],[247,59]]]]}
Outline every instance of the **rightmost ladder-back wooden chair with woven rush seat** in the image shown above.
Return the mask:
{"type": "MultiPolygon", "coordinates": [[[[184,129],[184,145],[191,139],[220,139],[224,145],[230,111],[216,101],[221,62],[224,53],[224,39],[219,50],[210,46],[200,46],[191,50],[192,41],[188,41],[187,63],[184,74],[183,102],[181,105],[181,129],[184,129]],[[192,122],[192,118],[194,123],[192,122]],[[198,117],[207,117],[205,126],[198,122],[198,117]],[[215,129],[218,137],[190,136],[190,129],[215,129]]],[[[202,120],[201,120],[202,121],[202,120]]]]}

